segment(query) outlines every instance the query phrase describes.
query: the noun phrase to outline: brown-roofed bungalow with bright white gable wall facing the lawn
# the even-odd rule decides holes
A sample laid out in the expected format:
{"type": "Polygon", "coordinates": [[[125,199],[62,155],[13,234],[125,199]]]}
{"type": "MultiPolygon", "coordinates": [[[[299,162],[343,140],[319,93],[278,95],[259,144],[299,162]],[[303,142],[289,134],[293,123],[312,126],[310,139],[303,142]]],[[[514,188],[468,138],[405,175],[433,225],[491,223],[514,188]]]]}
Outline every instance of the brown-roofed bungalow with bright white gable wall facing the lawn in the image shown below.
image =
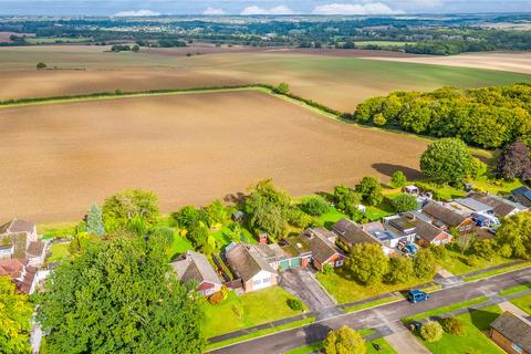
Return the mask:
{"type": "Polygon", "coordinates": [[[246,292],[278,284],[279,273],[252,246],[232,243],[227,247],[226,257],[230,269],[241,278],[246,292]]]}

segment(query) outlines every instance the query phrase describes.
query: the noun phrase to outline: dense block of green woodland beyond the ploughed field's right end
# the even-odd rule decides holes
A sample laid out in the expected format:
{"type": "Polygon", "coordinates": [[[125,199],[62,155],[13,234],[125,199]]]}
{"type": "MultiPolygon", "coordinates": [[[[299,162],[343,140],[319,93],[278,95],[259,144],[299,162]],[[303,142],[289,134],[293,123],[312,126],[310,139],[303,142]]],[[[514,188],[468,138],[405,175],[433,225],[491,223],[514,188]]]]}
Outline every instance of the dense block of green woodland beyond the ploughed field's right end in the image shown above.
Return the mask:
{"type": "Polygon", "coordinates": [[[436,137],[459,137],[485,148],[516,140],[531,146],[531,84],[444,87],[428,93],[397,91],[361,103],[353,119],[436,137]]]}

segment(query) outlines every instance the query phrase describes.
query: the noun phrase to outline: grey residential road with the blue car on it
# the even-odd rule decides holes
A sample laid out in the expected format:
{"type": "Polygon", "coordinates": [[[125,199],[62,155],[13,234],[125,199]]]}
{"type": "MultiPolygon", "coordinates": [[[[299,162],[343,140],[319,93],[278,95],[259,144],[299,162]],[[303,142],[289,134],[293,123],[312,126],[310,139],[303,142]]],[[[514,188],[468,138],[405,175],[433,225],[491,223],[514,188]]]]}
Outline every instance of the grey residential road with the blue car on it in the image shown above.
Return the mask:
{"type": "MultiPolygon", "coordinates": [[[[322,341],[331,329],[344,324],[356,329],[373,329],[429,310],[451,305],[483,295],[492,295],[499,290],[531,282],[531,268],[500,274],[476,282],[461,283],[431,294],[430,300],[412,304],[407,301],[389,303],[375,309],[340,315],[315,322],[304,327],[275,333],[249,342],[219,348],[215,354],[281,354],[310,343],[322,341]]],[[[274,309],[271,309],[274,311],[274,309]]]]}

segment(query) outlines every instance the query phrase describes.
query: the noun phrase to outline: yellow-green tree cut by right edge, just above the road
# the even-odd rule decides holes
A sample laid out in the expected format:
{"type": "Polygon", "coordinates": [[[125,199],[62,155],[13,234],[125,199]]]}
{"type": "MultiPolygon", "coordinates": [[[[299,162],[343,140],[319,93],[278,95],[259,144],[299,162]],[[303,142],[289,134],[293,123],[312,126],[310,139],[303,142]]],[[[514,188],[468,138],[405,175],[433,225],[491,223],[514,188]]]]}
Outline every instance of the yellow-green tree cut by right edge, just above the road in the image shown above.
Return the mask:
{"type": "Polygon", "coordinates": [[[509,244],[511,256],[516,258],[531,257],[531,212],[519,212],[504,219],[496,233],[500,246],[509,244]]]}

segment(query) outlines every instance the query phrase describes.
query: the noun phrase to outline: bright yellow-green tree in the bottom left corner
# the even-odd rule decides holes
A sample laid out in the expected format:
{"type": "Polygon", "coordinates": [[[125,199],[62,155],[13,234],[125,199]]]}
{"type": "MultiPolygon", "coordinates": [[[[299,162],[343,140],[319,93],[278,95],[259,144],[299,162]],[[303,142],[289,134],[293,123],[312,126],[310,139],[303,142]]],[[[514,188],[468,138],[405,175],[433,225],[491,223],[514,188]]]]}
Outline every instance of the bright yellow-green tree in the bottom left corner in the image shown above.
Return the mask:
{"type": "Polygon", "coordinates": [[[0,353],[31,353],[32,314],[28,295],[19,293],[9,277],[0,277],[0,353]]]}

